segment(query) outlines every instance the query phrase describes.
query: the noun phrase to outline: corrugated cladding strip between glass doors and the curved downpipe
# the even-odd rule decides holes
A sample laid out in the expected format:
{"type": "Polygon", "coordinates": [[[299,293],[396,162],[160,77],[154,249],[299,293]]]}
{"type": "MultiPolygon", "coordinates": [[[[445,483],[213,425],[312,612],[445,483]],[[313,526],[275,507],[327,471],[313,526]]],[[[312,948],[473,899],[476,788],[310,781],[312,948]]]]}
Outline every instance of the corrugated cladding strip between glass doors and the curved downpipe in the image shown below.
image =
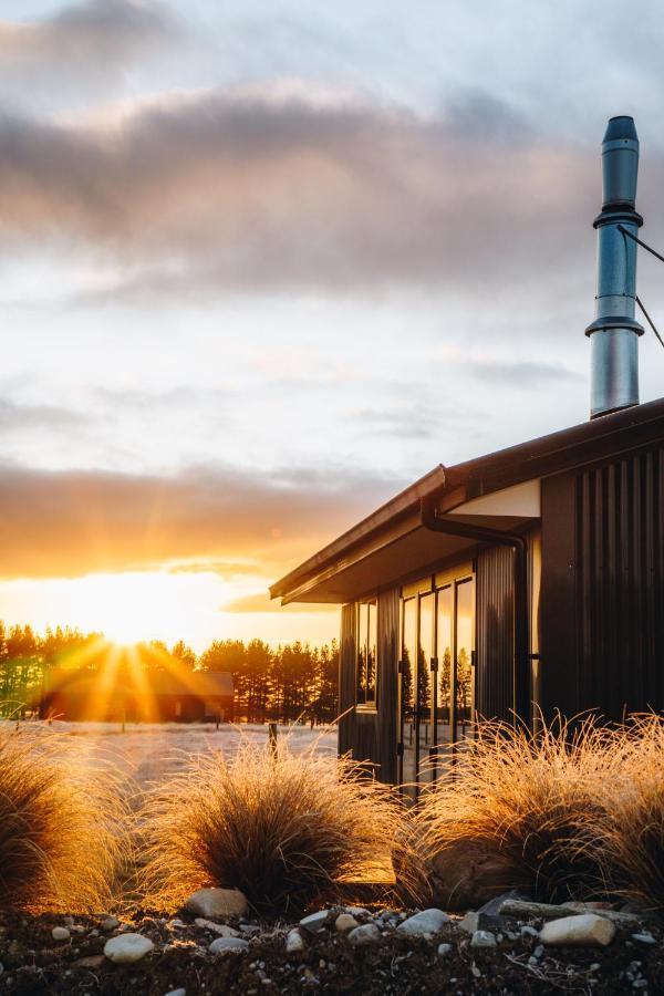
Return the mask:
{"type": "Polygon", "coordinates": [[[485,719],[512,718],[513,558],[509,547],[490,547],[477,554],[476,703],[485,719]]]}

